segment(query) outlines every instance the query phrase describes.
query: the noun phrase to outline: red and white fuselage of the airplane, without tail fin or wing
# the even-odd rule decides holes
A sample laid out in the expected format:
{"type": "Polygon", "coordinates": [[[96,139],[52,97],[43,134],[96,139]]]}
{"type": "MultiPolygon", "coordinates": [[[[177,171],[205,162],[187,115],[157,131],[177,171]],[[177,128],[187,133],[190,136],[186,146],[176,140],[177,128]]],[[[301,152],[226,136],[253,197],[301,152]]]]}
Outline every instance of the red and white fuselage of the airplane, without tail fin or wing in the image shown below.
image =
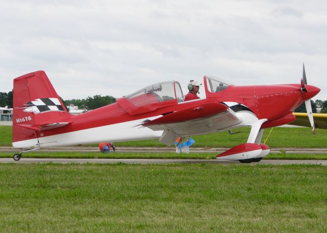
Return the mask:
{"type": "Polygon", "coordinates": [[[236,111],[242,122],[225,128],[208,128],[209,132],[219,132],[249,125],[266,118],[263,127],[272,127],[293,121],[292,112],[302,102],[299,85],[273,86],[230,86],[223,92],[207,93],[205,99],[179,102],[155,111],[136,116],[128,114],[118,103],[92,110],[71,118],[72,123],[65,127],[37,132],[37,139],[13,143],[16,147],[69,146],[101,141],[130,141],[159,138],[162,131],[152,131],[141,125],[145,120],[153,120],[162,115],[197,107],[207,102],[235,102],[246,108],[236,111]]]}

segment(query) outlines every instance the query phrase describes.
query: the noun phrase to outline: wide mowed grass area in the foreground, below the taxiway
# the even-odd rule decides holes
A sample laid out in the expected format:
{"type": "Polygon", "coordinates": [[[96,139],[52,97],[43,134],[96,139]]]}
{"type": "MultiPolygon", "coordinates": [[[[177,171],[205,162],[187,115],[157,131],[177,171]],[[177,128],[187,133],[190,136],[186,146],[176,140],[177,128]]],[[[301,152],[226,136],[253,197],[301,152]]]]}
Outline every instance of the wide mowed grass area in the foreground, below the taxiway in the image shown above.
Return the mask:
{"type": "Polygon", "coordinates": [[[327,232],[318,165],[0,164],[0,232],[327,232]]]}

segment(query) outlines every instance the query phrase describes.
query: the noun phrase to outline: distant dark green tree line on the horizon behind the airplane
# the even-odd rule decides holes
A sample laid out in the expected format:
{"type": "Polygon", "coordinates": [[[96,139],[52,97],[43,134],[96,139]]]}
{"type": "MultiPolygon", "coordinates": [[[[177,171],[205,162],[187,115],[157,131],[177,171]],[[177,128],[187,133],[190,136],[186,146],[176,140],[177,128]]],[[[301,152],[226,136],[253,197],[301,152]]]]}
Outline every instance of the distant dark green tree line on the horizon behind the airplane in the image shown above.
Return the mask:
{"type": "MultiPolygon", "coordinates": [[[[12,108],[12,98],[13,93],[12,91],[7,92],[0,92],[0,107],[8,106],[8,108],[12,108]]],[[[114,103],[116,98],[111,95],[101,96],[101,95],[94,95],[93,97],[88,96],[86,99],[62,99],[64,106],[70,106],[73,104],[74,106],[78,106],[79,109],[86,109],[86,110],[94,110],[100,107],[110,105],[110,103],[114,103]]],[[[321,107],[321,113],[327,113],[327,100],[322,101],[320,99],[316,99],[315,101],[311,100],[312,112],[317,112],[317,106],[321,107]]],[[[303,102],[294,112],[297,113],[306,113],[306,106],[303,102]]]]}

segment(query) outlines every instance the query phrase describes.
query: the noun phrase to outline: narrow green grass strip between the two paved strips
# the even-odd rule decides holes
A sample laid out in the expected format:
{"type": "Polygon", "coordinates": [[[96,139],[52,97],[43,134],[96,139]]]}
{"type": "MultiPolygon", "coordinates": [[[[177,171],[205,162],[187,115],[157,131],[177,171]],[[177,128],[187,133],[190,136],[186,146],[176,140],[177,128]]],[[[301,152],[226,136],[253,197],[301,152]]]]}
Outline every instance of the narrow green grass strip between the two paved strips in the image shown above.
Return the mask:
{"type": "MultiPolygon", "coordinates": [[[[0,152],[0,158],[12,158],[15,152],[0,152]]],[[[217,153],[175,153],[175,152],[26,152],[22,158],[54,158],[54,159],[198,159],[214,160],[217,153]]],[[[318,153],[270,153],[268,160],[327,160],[327,154],[318,153]]]]}

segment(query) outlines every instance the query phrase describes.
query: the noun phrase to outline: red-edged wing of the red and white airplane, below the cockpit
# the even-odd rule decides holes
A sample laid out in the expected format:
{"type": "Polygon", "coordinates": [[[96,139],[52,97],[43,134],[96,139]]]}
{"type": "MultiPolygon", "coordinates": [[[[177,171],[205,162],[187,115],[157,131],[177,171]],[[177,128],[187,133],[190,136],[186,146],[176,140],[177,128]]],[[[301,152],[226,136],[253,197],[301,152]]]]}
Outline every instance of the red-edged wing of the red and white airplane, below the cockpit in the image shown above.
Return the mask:
{"type": "Polygon", "coordinates": [[[204,103],[164,115],[142,125],[153,131],[163,130],[159,141],[171,145],[179,136],[216,132],[241,122],[242,119],[222,103],[204,103]]]}

